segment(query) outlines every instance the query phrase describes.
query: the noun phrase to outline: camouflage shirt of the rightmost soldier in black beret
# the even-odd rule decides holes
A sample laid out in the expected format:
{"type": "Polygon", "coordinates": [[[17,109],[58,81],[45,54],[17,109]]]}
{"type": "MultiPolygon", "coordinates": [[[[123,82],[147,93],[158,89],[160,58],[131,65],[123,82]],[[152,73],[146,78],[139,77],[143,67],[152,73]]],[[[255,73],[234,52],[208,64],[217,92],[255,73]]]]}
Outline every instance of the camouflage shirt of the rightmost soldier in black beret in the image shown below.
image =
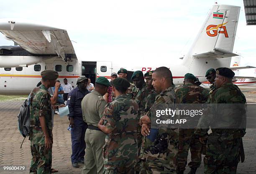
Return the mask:
{"type": "MultiPolygon", "coordinates": [[[[246,124],[241,122],[241,120],[246,119],[246,98],[238,86],[233,83],[226,83],[220,88],[215,89],[209,96],[207,103],[210,103],[210,105],[207,106],[207,113],[200,118],[198,123],[199,128],[207,129],[197,129],[195,131],[196,135],[207,135],[209,126],[211,126],[211,128],[216,126],[216,120],[218,120],[218,124],[220,124],[218,127],[228,127],[230,125],[237,125],[237,127],[239,127],[242,124],[246,124]],[[223,104],[220,105],[220,103],[223,104]],[[241,105],[225,105],[235,103],[241,103],[241,105]]],[[[242,136],[245,134],[245,129],[212,129],[212,133],[230,134],[238,130],[241,131],[242,136]]]]}

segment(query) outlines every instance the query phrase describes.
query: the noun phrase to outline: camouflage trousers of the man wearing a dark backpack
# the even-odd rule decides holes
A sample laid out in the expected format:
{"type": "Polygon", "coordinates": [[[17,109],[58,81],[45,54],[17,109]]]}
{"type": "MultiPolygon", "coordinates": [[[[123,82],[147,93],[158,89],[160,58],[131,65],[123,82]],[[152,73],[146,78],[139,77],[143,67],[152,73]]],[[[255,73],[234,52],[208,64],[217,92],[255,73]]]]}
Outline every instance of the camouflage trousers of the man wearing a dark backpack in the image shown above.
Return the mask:
{"type": "Polygon", "coordinates": [[[50,174],[51,152],[52,149],[46,149],[45,145],[31,144],[30,174],[50,174]]]}

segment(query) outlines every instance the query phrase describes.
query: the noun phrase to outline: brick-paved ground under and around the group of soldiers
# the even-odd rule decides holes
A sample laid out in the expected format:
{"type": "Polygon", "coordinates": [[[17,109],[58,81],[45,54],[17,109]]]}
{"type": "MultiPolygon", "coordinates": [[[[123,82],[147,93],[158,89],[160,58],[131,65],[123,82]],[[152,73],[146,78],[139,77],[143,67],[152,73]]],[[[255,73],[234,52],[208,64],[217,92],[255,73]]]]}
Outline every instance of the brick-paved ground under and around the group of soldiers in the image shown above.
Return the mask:
{"type": "MultiPolygon", "coordinates": [[[[246,96],[246,100],[250,103],[256,103],[256,86],[239,86],[246,96]]],[[[27,174],[31,161],[30,141],[28,137],[25,139],[22,148],[20,145],[23,136],[18,130],[17,115],[20,105],[23,101],[1,101],[0,102],[0,174],[27,174]],[[23,169],[4,170],[4,167],[24,166],[23,169]]],[[[256,115],[256,114],[255,114],[256,115]]],[[[256,119],[256,118],[253,118],[256,119]]],[[[79,168],[73,168],[71,165],[71,136],[67,130],[69,121],[67,117],[59,117],[54,115],[54,144],[52,154],[52,168],[58,169],[56,174],[81,174],[83,165],[79,168]]],[[[243,144],[246,159],[244,163],[238,164],[238,174],[256,174],[256,129],[246,129],[246,135],[243,137],[243,144]]],[[[203,156],[202,156],[203,159],[203,156]]],[[[188,162],[190,161],[190,155],[188,162]]],[[[16,168],[17,168],[16,167],[16,168]]],[[[197,174],[204,172],[203,161],[197,174]]],[[[187,174],[187,167],[184,172],[187,174]]]]}

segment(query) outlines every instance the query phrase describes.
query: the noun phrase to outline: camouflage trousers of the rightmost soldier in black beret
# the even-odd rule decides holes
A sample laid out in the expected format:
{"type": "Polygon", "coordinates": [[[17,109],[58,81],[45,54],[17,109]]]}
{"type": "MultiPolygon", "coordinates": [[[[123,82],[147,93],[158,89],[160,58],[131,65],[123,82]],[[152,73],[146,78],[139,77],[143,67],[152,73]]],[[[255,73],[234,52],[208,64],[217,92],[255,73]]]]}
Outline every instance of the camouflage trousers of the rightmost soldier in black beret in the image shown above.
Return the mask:
{"type": "Polygon", "coordinates": [[[204,158],[205,174],[236,174],[240,149],[241,137],[228,140],[210,134],[204,158]]]}

